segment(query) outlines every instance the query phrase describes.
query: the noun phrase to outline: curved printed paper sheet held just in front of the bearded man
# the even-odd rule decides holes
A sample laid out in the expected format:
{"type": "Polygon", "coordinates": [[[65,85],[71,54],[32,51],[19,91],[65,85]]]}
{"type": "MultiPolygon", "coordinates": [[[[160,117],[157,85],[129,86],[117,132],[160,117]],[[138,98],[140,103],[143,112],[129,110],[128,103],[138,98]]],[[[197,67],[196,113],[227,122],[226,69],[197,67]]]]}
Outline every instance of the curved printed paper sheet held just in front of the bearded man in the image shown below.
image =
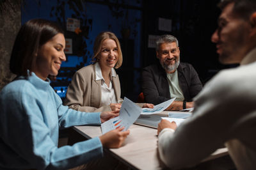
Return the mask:
{"type": "Polygon", "coordinates": [[[167,100],[161,104],[154,105],[154,108],[143,108],[141,114],[157,114],[159,112],[163,112],[169,105],[172,104],[172,102],[175,100],[175,98],[172,98],[170,100],[167,100]]]}

